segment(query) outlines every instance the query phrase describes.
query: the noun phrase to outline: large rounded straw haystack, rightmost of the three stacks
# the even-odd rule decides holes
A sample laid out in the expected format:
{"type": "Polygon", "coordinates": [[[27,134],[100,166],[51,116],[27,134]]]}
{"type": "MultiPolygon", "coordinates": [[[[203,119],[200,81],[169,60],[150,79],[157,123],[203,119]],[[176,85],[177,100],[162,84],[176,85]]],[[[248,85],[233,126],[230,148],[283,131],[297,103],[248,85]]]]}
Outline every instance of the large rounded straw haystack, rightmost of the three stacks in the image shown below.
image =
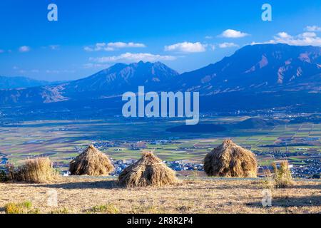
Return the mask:
{"type": "Polygon", "coordinates": [[[204,159],[204,170],[208,176],[256,177],[257,162],[255,155],[232,140],[208,153],[204,159]]]}

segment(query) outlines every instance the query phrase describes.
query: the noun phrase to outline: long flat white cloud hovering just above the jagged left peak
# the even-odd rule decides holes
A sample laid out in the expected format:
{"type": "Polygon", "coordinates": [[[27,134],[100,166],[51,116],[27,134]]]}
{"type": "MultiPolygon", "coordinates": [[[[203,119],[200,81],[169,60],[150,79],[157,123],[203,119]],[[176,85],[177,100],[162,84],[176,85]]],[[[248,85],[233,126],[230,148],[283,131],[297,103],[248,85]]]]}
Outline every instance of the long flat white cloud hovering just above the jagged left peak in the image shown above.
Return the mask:
{"type": "Polygon", "coordinates": [[[96,63],[114,63],[114,62],[138,62],[138,61],[173,61],[175,56],[153,55],[151,53],[123,53],[119,56],[105,56],[99,58],[89,58],[96,63]]]}

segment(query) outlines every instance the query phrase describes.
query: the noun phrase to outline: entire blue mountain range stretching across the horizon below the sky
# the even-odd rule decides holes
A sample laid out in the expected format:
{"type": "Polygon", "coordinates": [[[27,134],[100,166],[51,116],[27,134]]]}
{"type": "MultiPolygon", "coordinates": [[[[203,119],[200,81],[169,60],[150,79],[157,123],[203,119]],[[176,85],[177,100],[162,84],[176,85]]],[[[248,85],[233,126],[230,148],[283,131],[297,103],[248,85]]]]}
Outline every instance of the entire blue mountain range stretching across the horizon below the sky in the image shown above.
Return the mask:
{"type": "Polygon", "coordinates": [[[76,81],[0,90],[0,105],[105,102],[138,86],[146,91],[198,91],[205,109],[312,108],[312,103],[321,107],[321,48],[245,46],[217,63],[182,74],[160,62],[117,63],[76,81]]]}

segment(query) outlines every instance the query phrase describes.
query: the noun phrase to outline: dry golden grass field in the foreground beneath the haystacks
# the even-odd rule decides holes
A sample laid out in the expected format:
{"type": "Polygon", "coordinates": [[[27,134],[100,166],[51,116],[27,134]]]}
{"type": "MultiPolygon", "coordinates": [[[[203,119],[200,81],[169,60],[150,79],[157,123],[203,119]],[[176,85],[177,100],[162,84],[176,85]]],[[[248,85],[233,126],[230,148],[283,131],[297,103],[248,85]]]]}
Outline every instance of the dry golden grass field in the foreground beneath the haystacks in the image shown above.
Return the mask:
{"type": "Polygon", "coordinates": [[[25,213],[321,213],[321,182],[272,189],[272,207],[263,207],[263,189],[258,179],[195,177],[126,189],[111,178],[61,177],[48,184],[0,183],[0,213],[13,202],[28,202],[25,213]],[[49,206],[53,190],[58,204],[49,206]]]}

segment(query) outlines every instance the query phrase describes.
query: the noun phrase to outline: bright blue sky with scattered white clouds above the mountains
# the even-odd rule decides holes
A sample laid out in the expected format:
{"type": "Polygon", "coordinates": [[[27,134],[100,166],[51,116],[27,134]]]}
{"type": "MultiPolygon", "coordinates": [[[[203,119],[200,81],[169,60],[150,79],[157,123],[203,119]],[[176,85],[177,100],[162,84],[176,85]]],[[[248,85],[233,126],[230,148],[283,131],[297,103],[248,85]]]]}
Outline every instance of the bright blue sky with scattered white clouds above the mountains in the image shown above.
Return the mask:
{"type": "Polygon", "coordinates": [[[140,60],[182,73],[250,43],[321,46],[320,15],[321,0],[1,0],[0,75],[73,80],[140,60]]]}

